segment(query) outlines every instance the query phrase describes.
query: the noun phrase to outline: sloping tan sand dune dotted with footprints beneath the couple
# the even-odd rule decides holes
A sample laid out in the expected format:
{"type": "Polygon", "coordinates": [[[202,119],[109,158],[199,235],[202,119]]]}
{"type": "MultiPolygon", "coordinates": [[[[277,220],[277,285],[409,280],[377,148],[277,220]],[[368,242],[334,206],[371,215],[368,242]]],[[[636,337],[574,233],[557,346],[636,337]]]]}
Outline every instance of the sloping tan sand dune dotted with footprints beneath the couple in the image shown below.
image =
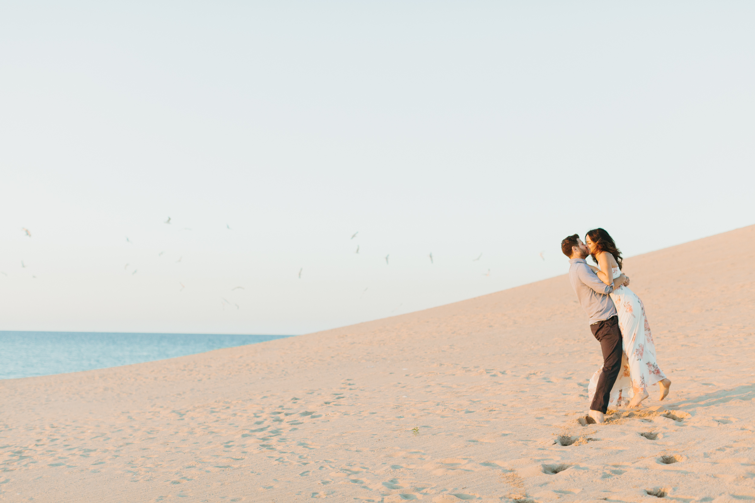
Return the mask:
{"type": "Polygon", "coordinates": [[[0,381],[0,500],[755,500],[753,250],[750,226],[625,260],[673,385],[604,425],[559,257],[426,311],[0,381]]]}

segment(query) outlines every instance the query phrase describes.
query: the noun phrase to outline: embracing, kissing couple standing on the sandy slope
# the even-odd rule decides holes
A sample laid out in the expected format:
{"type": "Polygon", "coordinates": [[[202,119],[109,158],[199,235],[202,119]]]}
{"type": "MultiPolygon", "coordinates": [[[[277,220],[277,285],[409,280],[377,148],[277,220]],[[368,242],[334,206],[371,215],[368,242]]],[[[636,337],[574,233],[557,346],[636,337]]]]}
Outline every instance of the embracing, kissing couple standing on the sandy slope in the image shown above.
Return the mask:
{"type": "Polygon", "coordinates": [[[648,386],[656,383],[663,400],[671,382],[656,363],[645,306],[628,288],[614,240],[602,228],[593,228],[584,243],[576,234],[565,238],[561,251],[569,257],[569,281],[603,353],[603,365],[587,387],[590,417],[601,423],[609,405],[638,407],[648,397],[648,386]],[[587,256],[598,267],[588,265],[587,256]]]}

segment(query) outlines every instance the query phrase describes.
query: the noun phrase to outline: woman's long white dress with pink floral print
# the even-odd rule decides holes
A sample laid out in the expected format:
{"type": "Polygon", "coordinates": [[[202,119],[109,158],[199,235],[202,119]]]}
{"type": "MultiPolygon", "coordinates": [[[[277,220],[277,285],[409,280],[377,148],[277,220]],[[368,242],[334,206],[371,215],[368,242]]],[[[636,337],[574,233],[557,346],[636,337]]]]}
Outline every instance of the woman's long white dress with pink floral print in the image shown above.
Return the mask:
{"type": "MultiPolygon", "coordinates": [[[[614,276],[621,275],[618,267],[614,276]]],[[[627,287],[618,287],[611,294],[618,312],[618,327],[621,330],[624,355],[621,357],[621,370],[611,389],[609,406],[622,406],[629,403],[635,393],[647,391],[648,386],[666,379],[655,360],[655,344],[650,333],[648,317],[643,301],[627,287]]],[[[593,374],[587,387],[587,400],[592,401],[598,384],[600,369],[593,374]]]]}

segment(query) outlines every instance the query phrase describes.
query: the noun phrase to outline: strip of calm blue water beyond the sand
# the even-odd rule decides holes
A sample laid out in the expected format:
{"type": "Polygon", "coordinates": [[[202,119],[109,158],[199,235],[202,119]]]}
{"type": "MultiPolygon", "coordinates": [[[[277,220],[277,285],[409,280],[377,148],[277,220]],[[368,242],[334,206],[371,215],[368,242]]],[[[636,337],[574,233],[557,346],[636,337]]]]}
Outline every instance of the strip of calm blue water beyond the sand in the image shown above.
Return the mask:
{"type": "Polygon", "coordinates": [[[291,336],[0,331],[0,379],[163,360],[291,336]]]}

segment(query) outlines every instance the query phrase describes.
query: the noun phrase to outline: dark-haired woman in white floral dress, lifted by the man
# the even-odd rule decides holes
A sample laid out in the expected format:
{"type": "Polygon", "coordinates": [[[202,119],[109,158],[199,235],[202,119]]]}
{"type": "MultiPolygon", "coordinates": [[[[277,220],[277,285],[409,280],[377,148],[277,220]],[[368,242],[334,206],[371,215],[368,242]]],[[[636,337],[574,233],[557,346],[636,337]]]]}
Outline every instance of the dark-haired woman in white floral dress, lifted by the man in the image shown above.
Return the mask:
{"type": "MultiPolygon", "coordinates": [[[[590,256],[599,268],[590,268],[605,284],[612,284],[614,278],[621,275],[621,251],[618,250],[608,232],[602,228],[593,228],[587,232],[584,244],[590,249],[590,256]],[[608,273],[608,274],[606,274],[608,273]]],[[[631,397],[630,407],[637,407],[648,397],[648,386],[661,388],[659,400],[668,395],[671,382],[658,368],[655,362],[655,344],[650,333],[648,318],[645,315],[643,301],[627,287],[621,286],[613,291],[611,299],[618,312],[618,326],[621,329],[624,356],[622,369],[611,390],[609,405],[621,406],[631,397]]],[[[595,394],[600,369],[593,374],[587,388],[590,400],[595,394]]]]}

